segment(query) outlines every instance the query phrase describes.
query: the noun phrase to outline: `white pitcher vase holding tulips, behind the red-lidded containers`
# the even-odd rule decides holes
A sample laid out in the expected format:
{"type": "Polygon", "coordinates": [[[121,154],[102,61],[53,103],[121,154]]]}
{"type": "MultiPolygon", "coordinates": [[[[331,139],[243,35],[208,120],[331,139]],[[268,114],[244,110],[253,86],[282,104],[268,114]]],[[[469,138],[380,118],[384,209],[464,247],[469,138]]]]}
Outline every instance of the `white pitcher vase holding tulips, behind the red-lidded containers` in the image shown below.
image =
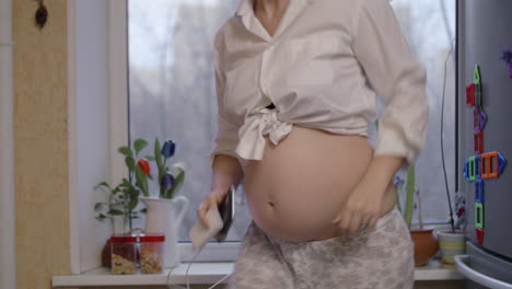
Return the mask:
{"type": "Polygon", "coordinates": [[[164,267],[179,266],[179,252],[177,251],[179,226],[188,209],[188,199],[179,196],[173,199],[140,198],[148,208],[146,215],[146,233],[165,234],[164,267]]]}

